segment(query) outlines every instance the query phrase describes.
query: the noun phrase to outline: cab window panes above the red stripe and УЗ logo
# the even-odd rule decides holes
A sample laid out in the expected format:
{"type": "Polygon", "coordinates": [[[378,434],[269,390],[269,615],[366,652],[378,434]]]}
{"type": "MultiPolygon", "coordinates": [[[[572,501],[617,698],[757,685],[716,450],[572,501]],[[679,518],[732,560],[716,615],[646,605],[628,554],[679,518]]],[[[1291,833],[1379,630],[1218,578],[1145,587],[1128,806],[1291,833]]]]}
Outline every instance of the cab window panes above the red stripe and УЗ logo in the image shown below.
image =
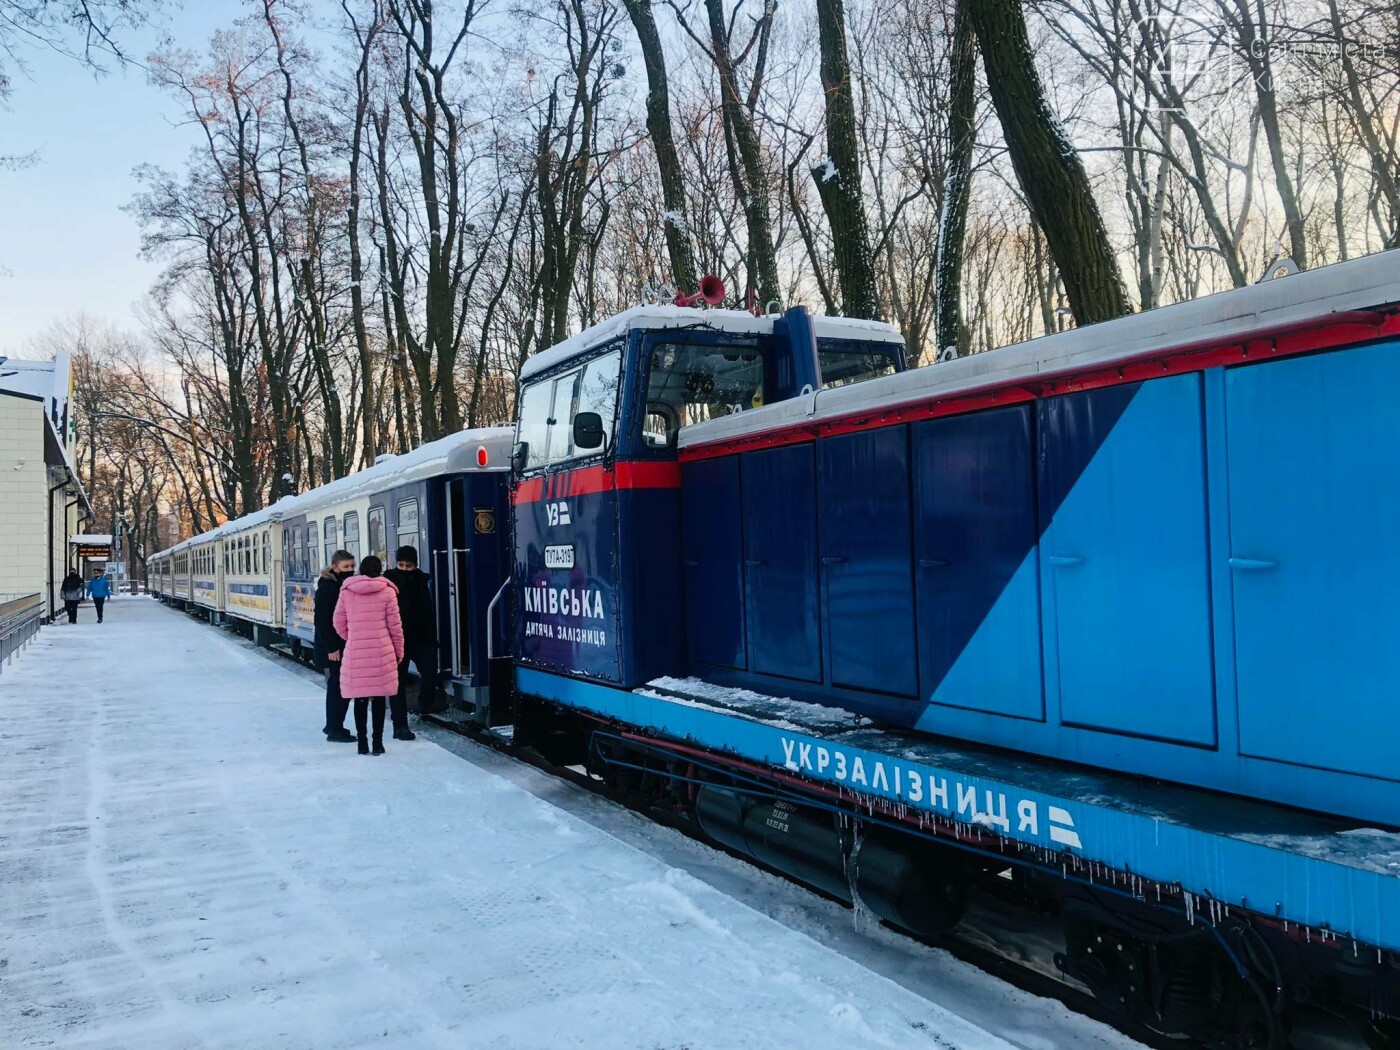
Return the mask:
{"type": "Polygon", "coordinates": [[[622,349],[613,349],[563,375],[528,384],[521,389],[519,430],[524,469],[538,470],[612,448],[617,421],[617,379],[622,349]],[[574,447],[574,419],[581,412],[598,413],[603,442],[595,448],[574,447]]]}

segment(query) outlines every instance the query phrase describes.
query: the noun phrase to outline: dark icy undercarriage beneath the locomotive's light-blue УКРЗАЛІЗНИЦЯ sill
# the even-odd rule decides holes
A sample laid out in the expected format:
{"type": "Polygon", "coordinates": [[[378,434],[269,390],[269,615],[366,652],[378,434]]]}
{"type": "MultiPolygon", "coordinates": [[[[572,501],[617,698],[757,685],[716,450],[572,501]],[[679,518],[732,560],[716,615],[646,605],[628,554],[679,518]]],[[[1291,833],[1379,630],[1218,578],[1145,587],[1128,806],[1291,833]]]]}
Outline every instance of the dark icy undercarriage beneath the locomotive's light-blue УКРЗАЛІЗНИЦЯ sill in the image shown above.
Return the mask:
{"type": "Polygon", "coordinates": [[[1400,1047],[1400,958],[1327,930],[547,701],[518,700],[514,746],[916,938],[1019,956],[1151,1043],[1400,1047]],[[1004,931],[977,931],[988,909],[1057,948],[1008,952],[1004,931]]]}

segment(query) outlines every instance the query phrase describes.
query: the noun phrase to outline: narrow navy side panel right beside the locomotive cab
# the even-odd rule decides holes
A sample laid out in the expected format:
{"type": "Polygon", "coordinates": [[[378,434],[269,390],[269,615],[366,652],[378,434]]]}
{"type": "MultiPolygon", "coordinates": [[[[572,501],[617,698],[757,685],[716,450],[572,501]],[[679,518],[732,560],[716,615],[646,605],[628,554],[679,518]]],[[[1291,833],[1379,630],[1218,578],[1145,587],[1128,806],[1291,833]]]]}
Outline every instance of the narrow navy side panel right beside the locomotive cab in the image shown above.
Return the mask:
{"type": "Polygon", "coordinates": [[[680,484],[692,664],[745,669],[739,458],[686,463],[680,484]]]}

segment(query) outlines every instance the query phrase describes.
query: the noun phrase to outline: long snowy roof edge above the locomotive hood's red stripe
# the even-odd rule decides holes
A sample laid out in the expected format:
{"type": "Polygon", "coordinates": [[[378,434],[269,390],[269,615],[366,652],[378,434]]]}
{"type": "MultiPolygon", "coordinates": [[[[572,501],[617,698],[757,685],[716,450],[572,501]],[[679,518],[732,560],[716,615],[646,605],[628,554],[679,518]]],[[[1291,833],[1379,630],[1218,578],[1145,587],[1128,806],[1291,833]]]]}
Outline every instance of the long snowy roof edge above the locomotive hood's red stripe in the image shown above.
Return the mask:
{"type": "Polygon", "coordinates": [[[1400,251],[1305,270],[1246,288],[1042,336],[953,361],[818,391],[750,412],[696,423],[680,448],[729,441],[801,423],[962,396],[1026,379],[1072,375],[1173,347],[1229,344],[1267,329],[1400,302],[1400,251]]]}

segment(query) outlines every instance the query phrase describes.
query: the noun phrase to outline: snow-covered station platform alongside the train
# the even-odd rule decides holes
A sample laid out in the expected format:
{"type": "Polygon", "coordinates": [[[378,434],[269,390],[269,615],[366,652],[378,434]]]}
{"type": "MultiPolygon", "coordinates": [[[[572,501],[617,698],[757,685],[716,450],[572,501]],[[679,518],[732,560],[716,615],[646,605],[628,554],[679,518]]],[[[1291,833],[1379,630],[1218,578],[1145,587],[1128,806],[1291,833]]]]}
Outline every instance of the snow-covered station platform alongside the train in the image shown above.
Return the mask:
{"type": "Polygon", "coordinates": [[[449,734],[360,757],[321,718],[150,599],[0,672],[0,1044],[1130,1046],[449,734]]]}

